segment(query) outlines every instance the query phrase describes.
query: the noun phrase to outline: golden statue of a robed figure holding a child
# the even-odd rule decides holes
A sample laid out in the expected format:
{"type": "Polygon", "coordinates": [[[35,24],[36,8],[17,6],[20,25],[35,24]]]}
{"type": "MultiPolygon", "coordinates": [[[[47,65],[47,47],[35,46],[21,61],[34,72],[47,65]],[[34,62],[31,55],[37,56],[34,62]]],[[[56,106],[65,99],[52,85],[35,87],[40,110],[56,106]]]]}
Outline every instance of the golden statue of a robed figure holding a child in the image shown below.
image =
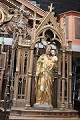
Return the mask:
{"type": "Polygon", "coordinates": [[[50,45],[46,48],[46,54],[39,57],[36,68],[36,104],[52,105],[53,71],[57,66],[58,58],[55,50],[50,45]]]}

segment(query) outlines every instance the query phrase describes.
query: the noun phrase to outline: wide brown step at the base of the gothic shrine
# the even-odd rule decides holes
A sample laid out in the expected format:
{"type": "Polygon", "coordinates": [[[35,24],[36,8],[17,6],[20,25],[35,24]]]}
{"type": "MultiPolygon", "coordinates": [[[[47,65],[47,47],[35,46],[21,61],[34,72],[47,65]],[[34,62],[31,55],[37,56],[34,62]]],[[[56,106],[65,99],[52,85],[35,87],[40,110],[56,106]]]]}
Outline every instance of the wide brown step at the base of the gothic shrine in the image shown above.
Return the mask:
{"type": "Polygon", "coordinates": [[[80,120],[75,110],[35,110],[13,108],[9,120],[80,120]]]}

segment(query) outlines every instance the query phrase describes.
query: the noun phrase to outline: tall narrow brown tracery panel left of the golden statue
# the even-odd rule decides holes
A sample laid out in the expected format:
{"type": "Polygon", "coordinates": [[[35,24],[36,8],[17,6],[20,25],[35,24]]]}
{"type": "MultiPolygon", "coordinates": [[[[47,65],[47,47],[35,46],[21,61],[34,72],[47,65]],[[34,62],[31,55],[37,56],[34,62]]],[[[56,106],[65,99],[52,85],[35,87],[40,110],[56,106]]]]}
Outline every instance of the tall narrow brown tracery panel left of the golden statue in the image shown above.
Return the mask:
{"type": "Polygon", "coordinates": [[[20,75],[18,81],[18,99],[25,98],[25,84],[26,84],[26,76],[28,69],[28,50],[22,52],[21,61],[20,61],[20,75]]]}

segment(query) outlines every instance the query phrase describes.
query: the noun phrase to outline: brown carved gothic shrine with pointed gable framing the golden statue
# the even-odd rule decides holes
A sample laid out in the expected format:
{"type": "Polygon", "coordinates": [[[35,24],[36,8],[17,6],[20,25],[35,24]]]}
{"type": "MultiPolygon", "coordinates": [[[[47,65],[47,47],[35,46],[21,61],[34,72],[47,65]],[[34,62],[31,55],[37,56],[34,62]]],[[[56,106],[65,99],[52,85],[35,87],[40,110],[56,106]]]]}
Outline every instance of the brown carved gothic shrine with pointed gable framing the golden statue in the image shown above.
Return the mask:
{"type": "MultiPolygon", "coordinates": [[[[41,11],[42,16],[37,11],[37,9],[27,10],[23,4],[20,8],[9,9],[7,12],[3,8],[0,9],[1,34],[7,33],[13,39],[10,66],[6,69],[10,77],[10,99],[12,100],[10,119],[17,119],[15,117],[17,115],[19,117],[26,115],[50,117],[50,114],[55,118],[60,114],[62,117],[67,117],[67,115],[74,117],[75,113],[77,116],[77,112],[73,110],[72,101],[71,42],[65,41],[65,32],[55,17],[52,4],[48,12],[41,11]],[[48,45],[52,50],[55,50],[58,59],[56,60],[56,69],[52,73],[54,78],[51,77],[54,80],[51,86],[52,102],[49,109],[48,104],[42,105],[40,103],[42,107],[35,106],[37,103],[35,90],[37,61],[41,55],[45,54],[48,45]],[[64,112],[61,112],[63,110],[64,112]],[[70,114],[70,112],[72,113],[70,114]]],[[[4,54],[3,51],[2,54],[4,54]]],[[[2,70],[2,79],[3,72],[4,70],[2,70]]],[[[1,85],[2,82],[3,80],[1,80],[1,85]]],[[[1,87],[0,95],[2,89],[1,87]]],[[[44,97],[44,101],[47,99],[44,97]]]]}

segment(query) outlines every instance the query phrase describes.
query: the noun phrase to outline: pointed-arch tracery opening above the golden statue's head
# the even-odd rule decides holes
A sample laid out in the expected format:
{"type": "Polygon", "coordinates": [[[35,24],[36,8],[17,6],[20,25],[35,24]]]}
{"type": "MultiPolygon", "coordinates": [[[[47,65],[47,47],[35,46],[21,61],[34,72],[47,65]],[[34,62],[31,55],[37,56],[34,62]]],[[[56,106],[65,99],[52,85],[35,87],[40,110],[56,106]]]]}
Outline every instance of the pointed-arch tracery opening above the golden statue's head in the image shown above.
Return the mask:
{"type": "Polygon", "coordinates": [[[61,48],[59,37],[56,32],[52,32],[50,29],[40,33],[39,39],[35,45],[36,54],[41,55],[42,53],[45,53],[45,48],[49,44],[52,46],[52,49],[55,49],[56,53],[58,53],[58,49],[61,48]]]}

